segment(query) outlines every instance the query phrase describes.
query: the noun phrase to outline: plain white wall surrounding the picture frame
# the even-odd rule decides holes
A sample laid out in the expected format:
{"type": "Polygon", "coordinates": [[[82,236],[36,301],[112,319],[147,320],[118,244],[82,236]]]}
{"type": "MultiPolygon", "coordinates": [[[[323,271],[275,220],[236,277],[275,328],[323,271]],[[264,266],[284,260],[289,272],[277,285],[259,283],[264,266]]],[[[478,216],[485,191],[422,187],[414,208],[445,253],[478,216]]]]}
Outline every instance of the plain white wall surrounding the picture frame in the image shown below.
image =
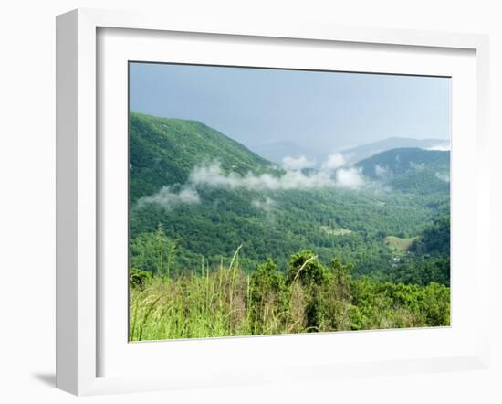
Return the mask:
{"type": "MultiPolygon", "coordinates": [[[[501,173],[502,146],[502,27],[497,1],[403,2],[309,2],[214,0],[156,2],[143,0],[20,0],[2,5],[0,32],[0,245],[3,257],[3,288],[0,293],[0,399],[4,402],[79,402],[51,387],[54,372],[54,16],[78,6],[107,8],[156,7],[163,13],[194,15],[213,13],[231,18],[290,18],[341,25],[410,27],[447,31],[486,32],[491,35],[491,100],[493,143],[492,173],[501,173]],[[23,241],[23,242],[20,242],[23,241]],[[6,258],[6,260],[5,260],[6,258]],[[5,332],[8,330],[8,332],[5,332]]],[[[495,184],[494,184],[495,186],[495,184]]],[[[498,253],[501,228],[500,191],[494,187],[492,203],[493,251],[498,253]]],[[[499,260],[494,266],[500,268],[499,260]]],[[[502,282],[500,271],[492,276],[494,288],[502,282]]],[[[493,332],[502,340],[500,293],[492,293],[493,332]],[[498,309],[498,310],[496,310],[498,309]]],[[[336,397],[351,402],[410,403],[500,402],[502,379],[500,347],[493,350],[489,371],[377,377],[326,383],[258,388],[228,388],[192,392],[152,393],[87,399],[96,403],[148,402],[310,402],[336,397]]]]}

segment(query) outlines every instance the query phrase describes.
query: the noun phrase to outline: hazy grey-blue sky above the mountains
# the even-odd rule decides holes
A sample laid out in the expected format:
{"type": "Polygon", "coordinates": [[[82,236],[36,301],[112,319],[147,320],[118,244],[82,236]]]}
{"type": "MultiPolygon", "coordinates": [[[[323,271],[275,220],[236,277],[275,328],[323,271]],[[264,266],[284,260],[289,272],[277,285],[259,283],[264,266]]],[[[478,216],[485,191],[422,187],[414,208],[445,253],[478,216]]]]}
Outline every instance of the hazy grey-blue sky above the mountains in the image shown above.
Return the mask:
{"type": "Polygon", "coordinates": [[[445,78],[131,63],[131,110],[204,122],[255,147],[330,153],[387,137],[448,139],[445,78]]]}

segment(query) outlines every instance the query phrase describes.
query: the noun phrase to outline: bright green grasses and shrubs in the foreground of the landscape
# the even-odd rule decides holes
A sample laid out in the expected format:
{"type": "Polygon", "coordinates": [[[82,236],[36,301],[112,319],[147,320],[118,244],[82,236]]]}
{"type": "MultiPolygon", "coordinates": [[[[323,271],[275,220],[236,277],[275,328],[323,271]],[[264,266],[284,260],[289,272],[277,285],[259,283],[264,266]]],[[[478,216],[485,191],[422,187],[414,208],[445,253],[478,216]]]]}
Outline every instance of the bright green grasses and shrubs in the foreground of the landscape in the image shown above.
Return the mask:
{"type": "Polygon", "coordinates": [[[286,271],[272,260],[246,273],[230,264],[178,276],[130,271],[130,340],[277,335],[449,325],[450,289],[353,279],[310,250],[286,271]]]}

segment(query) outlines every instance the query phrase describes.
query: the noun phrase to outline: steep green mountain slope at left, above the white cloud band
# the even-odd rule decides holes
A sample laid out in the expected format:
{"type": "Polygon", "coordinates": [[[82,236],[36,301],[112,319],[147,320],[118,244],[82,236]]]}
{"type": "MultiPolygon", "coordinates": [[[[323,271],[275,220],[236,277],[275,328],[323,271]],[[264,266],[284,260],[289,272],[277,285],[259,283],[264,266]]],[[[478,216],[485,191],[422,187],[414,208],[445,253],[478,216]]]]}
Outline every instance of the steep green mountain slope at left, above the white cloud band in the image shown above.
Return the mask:
{"type": "Polygon", "coordinates": [[[130,201],[162,186],[183,184],[193,166],[218,160],[225,169],[244,174],[271,165],[225,134],[201,122],[130,113],[130,201]]]}

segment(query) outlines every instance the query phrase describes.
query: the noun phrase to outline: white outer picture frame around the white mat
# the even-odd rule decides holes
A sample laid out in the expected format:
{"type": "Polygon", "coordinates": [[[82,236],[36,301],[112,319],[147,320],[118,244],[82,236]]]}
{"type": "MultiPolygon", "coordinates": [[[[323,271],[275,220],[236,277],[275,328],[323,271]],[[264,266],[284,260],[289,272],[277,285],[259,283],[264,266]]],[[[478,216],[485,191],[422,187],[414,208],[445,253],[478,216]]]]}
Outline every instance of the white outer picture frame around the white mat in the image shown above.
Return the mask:
{"type": "MultiPolygon", "coordinates": [[[[259,37],[262,41],[281,38],[342,42],[351,44],[389,45],[399,47],[429,48],[441,53],[446,49],[465,49],[476,58],[476,115],[473,141],[476,144],[477,171],[476,207],[471,212],[476,218],[476,299],[477,308],[486,308],[489,289],[489,260],[486,242],[489,231],[487,217],[488,168],[487,155],[487,97],[488,97],[488,39],[474,34],[449,34],[412,30],[380,28],[326,27],[314,24],[276,26],[246,23],[242,21],[188,21],[164,16],[144,16],[137,13],[120,13],[101,10],[79,9],[58,16],[57,19],[57,387],[73,394],[88,395],[111,392],[142,391],[170,388],[196,388],[253,384],[263,381],[295,381],[305,379],[332,379],[340,375],[361,377],[367,375],[415,373],[455,370],[461,368],[485,368],[489,362],[489,332],[486,326],[487,310],[481,310],[474,325],[476,347],[458,355],[434,353],[432,356],[406,358],[399,356],[389,360],[325,361],[309,359],[288,364],[284,372],[277,369],[259,373],[256,368],[248,371],[232,368],[232,359],[225,365],[205,367],[207,377],[187,377],[187,373],[158,370],[149,374],[125,374],[103,376],[99,360],[104,355],[100,338],[103,317],[99,312],[99,300],[103,290],[99,276],[99,221],[103,210],[98,200],[103,183],[99,176],[99,29],[141,29],[142,33],[198,33],[201,35],[225,35],[259,37]],[[268,39],[267,39],[268,38],[268,39]],[[484,240],[480,242],[480,235],[484,240]],[[299,369],[308,372],[298,372],[299,369]]],[[[132,31],[131,31],[132,32],[132,31]]],[[[136,31],[137,32],[137,31],[136,31]]],[[[399,50],[398,50],[399,51],[399,50]]],[[[102,57],[102,55],[101,55],[102,57]]],[[[455,238],[455,233],[454,233],[455,238]]],[[[127,305],[127,302],[123,302],[127,305]]],[[[455,310],[455,308],[454,308],[455,310]]],[[[105,317],[106,318],[106,317],[105,317]]],[[[455,326],[455,324],[453,325],[455,326]]],[[[386,332],[379,332],[386,333],[386,332]]],[[[373,333],[376,335],[376,333],[373,333]]],[[[302,335],[316,344],[323,344],[329,336],[302,335]]],[[[382,338],[385,338],[382,335],[382,338]]],[[[411,336],[413,338],[413,335],[411,336]]],[[[417,334],[415,338],[424,335],[417,334]]],[[[431,336],[434,338],[435,336],[431,336]]],[[[277,337],[276,337],[277,338],[277,337]]],[[[280,337],[279,337],[280,338],[280,337]]],[[[300,341],[298,336],[294,336],[300,341]]],[[[345,339],[351,338],[345,334],[345,339]]],[[[255,338],[256,340],[256,338],[255,338]]],[[[190,341],[185,348],[199,349],[208,345],[228,349],[242,347],[246,338],[190,341]]],[[[277,345],[277,339],[260,338],[261,346],[277,345]]],[[[145,345],[146,346],[146,345],[145,345]]],[[[277,347],[277,346],[276,346],[277,347]]],[[[153,350],[162,350],[157,345],[153,350]]],[[[254,349],[254,348],[251,348],[254,349]]],[[[460,351],[459,351],[460,352],[460,351]]],[[[401,354],[400,354],[401,355],[401,354]]],[[[177,359],[181,360],[181,359],[177,359]]],[[[175,365],[175,364],[172,364],[175,365]]],[[[154,368],[154,367],[153,367],[154,368]]]]}

